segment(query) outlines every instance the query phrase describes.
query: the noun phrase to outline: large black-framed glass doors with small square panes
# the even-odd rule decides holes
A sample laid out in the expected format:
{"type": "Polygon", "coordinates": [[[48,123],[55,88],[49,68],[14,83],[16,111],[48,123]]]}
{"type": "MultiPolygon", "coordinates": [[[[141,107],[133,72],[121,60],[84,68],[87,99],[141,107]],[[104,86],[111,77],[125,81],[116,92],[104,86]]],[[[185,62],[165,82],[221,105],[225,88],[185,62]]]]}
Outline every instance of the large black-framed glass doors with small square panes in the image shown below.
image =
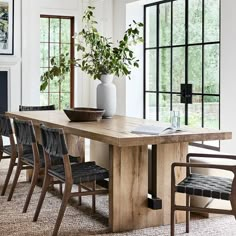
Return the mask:
{"type": "MultiPolygon", "coordinates": [[[[144,118],[220,128],[220,0],[144,6],[144,118]]],[[[205,142],[219,148],[219,142],[205,142]]]]}

